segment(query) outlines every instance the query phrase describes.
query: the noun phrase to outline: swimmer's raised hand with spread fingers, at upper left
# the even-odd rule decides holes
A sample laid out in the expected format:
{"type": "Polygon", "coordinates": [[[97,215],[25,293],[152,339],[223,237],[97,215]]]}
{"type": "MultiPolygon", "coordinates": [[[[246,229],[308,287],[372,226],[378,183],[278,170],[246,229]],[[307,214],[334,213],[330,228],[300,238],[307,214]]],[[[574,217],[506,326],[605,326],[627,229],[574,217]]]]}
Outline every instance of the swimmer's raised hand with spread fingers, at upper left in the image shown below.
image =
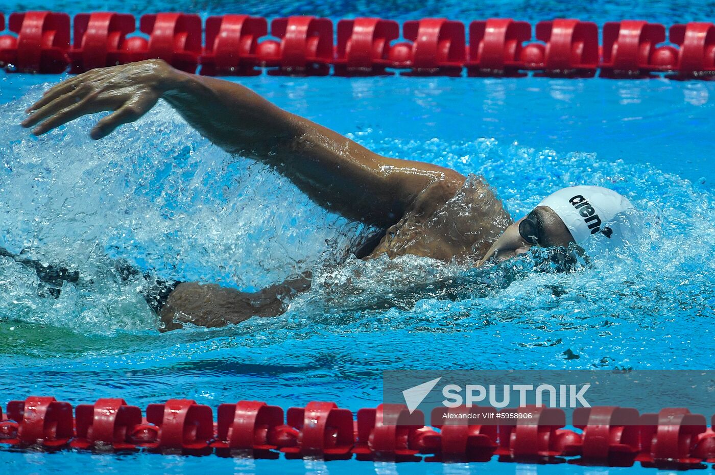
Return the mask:
{"type": "Polygon", "coordinates": [[[21,125],[34,127],[32,133],[41,135],[83,115],[114,111],[90,132],[93,139],[101,139],[152,109],[174,74],[157,59],[92,69],[48,89],[26,110],[30,116],[21,125]]]}

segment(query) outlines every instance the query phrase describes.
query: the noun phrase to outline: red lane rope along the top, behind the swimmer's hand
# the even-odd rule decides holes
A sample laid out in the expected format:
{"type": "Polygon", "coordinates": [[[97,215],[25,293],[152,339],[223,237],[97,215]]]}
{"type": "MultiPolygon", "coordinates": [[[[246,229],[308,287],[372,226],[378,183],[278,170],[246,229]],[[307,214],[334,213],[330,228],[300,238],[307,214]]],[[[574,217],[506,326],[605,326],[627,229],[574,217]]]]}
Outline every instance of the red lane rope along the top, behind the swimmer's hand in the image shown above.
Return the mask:
{"type": "MultiPolygon", "coordinates": [[[[8,17],[0,35],[0,65],[9,72],[79,73],[96,67],[160,58],[187,72],[207,75],[268,74],[556,77],[676,79],[715,75],[715,24],[666,27],[647,21],[396,21],[343,19],[334,36],[330,19],[247,15],[68,14],[26,11],[8,17]],[[72,34],[70,29],[72,28],[72,34]],[[205,34],[204,34],[205,33],[205,34]],[[535,33],[535,40],[532,34],[535,33]],[[270,36],[268,36],[270,34],[270,36]],[[70,37],[73,41],[70,44],[70,37]],[[667,36],[667,38],[666,38],[667,36]],[[334,39],[337,37],[337,44],[334,39]],[[401,38],[401,40],[400,40],[401,38]],[[388,71],[388,68],[390,71],[388,71]]],[[[0,14],[0,29],[5,17],[0,14]]]]}

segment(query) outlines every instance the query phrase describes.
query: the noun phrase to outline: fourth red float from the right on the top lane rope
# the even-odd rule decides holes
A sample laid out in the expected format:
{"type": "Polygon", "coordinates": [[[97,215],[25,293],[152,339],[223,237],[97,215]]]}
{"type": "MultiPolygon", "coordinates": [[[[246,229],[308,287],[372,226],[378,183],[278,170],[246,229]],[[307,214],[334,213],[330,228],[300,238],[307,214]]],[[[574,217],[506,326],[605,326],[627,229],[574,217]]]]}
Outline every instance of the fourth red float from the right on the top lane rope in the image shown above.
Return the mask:
{"type": "Polygon", "coordinates": [[[531,39],[531,25],[511,18],[472,21],[469,25],[470,76],[523,76],[521,50],[531,39]]]}

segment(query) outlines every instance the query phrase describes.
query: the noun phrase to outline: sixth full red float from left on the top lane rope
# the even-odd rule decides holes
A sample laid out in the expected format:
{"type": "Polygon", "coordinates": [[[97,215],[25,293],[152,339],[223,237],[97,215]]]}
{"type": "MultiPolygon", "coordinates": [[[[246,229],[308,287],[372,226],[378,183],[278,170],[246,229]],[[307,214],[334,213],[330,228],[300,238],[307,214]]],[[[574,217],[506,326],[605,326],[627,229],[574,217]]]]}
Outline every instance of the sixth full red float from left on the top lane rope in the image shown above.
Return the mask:
{"type": "Polygon", "coordinates": [[[337,22],[335,74],[373,76],[388,74],[390,42],[400,37],[397,21],[356,18],[337,22]]]}

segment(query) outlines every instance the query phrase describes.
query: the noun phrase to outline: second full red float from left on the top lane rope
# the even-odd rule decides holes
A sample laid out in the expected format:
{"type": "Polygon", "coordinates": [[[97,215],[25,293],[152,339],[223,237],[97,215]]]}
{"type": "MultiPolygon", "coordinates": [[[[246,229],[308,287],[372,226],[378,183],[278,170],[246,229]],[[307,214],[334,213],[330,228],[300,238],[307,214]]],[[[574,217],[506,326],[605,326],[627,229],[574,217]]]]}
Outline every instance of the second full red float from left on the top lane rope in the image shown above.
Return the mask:
{"type": "Polygon", "coordinates": [[[119,64],[127,34],[134,31],[134,15],[99,12],[74,16],[74,45],[69,50],[70,72],[119,64]]]}

